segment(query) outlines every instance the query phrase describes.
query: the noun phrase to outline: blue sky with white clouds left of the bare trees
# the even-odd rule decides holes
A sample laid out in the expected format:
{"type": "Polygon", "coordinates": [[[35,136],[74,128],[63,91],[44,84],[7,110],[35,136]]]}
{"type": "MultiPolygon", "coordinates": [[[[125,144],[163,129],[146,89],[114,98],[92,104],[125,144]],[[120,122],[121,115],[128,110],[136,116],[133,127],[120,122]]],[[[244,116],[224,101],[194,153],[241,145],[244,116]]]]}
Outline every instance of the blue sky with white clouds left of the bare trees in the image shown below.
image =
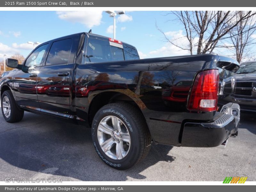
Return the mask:
{"type": "MultiPolygon", "coordinates": [[[[166,32],[182,29],[177,23],[166,22],[171,17],[167,18],[164,14],[166,12],[136,11],[117,16],[116,39],[136,46],[142,58],[164,56],[149,54],[166,44],[163,35],[156,29],[156,22],[166,32]]],[[[71,11],[1,11],[0,18],[0,54],[8,56],[19,52],[26,57],[33,48],[33,45],[27,44],[28,41],[43,43],[60,36],[87,32],[91,28],[93,33],[113,36],[107,32],[113,25],[113,18],[101,11],[85,15],[71,11]]]]}

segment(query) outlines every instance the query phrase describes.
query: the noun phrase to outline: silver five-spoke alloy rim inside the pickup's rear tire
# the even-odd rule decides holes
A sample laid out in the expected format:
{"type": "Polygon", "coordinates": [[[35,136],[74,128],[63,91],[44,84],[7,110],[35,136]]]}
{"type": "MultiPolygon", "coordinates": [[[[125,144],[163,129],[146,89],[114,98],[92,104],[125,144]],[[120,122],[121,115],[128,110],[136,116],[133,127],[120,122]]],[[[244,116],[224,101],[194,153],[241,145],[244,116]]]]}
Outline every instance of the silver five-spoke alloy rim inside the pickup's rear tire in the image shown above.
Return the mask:
{"type": "Polygon", "coordinates": [[[131,137],[124,122],[116,116],[104,117],[98,126],[98,141],[111,159],[121,160],[130,150],[131,137]]]}

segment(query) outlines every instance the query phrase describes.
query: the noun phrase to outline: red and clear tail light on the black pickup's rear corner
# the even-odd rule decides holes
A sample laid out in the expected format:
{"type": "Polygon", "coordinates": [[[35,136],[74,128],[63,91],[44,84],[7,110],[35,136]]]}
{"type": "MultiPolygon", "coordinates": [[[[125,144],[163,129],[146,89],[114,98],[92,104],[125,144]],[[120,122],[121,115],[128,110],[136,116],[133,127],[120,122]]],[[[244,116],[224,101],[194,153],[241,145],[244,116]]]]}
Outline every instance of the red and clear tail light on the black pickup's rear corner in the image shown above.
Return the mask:
{"type": "Polygon", "coordinates": [[[198,73],[190,93],[188,110],[215,111],[218,103],[218,91],[218,69],[198,73]]]}

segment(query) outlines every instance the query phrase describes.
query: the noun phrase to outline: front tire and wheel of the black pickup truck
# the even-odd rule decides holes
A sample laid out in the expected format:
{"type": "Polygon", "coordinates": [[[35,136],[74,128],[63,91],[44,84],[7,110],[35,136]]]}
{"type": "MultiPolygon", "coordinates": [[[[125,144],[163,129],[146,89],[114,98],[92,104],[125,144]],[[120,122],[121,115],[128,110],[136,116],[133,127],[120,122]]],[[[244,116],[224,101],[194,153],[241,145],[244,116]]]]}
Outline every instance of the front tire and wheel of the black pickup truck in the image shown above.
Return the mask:
{"type": "Polygon", "coordinates": [[[24,111],[17,106],[10,90],[7,90],[2,94],[1,106],[4,119],[8,123],[19,122],[23,118],[24,111]],[[8,109],[10,109],[10,112],[7,112],[8,109]]]}

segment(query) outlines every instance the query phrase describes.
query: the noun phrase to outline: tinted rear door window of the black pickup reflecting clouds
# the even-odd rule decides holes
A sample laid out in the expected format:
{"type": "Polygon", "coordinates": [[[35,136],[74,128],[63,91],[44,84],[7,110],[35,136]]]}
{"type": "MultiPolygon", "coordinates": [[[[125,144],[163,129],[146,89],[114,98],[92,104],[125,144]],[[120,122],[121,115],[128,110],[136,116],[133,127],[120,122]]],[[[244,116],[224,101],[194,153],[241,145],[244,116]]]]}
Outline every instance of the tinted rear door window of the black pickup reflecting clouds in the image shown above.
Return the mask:
{"type": "Polygon", "coordinates": [[[71,53],[72,42],[72,39],[53,42],[46,60],[46,65],[67,64],[71,53]]]}

